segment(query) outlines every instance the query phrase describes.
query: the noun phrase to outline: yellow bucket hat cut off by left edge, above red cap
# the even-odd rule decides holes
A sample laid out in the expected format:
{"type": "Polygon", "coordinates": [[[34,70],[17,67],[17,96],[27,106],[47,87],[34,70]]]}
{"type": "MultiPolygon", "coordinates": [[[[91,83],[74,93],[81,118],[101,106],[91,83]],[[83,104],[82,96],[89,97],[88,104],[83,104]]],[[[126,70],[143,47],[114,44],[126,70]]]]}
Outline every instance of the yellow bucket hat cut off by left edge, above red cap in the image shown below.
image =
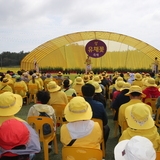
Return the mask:
{"type": "Polygon", "coordinates": [[[12,92],[0,94],[0,116],[12,116],[19,112],[23,104],[22,97],[12,92]]]}

